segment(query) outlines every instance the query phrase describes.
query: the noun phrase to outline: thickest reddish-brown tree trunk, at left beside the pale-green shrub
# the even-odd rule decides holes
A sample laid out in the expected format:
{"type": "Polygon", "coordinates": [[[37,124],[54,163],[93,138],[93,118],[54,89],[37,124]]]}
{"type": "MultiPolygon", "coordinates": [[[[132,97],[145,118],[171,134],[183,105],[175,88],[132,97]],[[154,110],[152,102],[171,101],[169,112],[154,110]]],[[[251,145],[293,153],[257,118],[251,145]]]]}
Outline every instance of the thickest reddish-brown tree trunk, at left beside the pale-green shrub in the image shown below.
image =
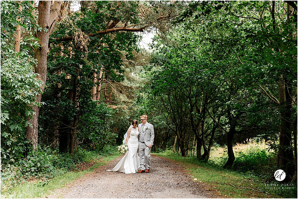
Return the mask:
{"type": "MultiPolygon", "coordinates": [[[[34,58],[37,59],[37,66],[34,67],[37,78],[43,81],[44,85],[46,83],[46,60],[48,55],[48,45],[49,45],[49,31],[44,31],[44,29],[49,30],[50,27],[50,9],[51,9],[52,1],[39,1],[38,5],[38,25],[43,29],[41,31],[37,31],[37,38],[40,40],[40,47],[35,49],[34,58]]],[[[41,87],[41,90],[44,91],[44,85],[41,87]]],[[[36,96],[36,103],[39,104],[41,102],[41,95],[36,96]]],[[[28,122],[32,124],[32,128],[30,126],[26,127],[26,137],[28,140],[32,142],[33,150],[37,150],[38,145],[38,114],[39,107],[33,106],[33,111],[35,115],[32,118],[28,118],[28,122]]]]}

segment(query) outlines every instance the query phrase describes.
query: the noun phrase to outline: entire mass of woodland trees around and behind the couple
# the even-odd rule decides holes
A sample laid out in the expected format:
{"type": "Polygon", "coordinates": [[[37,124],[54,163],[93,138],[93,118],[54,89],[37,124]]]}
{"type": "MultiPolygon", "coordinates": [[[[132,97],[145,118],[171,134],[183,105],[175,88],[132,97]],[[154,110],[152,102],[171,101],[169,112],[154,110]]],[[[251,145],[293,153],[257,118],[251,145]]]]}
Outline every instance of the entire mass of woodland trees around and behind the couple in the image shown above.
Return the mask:
{"type": "Polygon", "coordinates": [[[231,168],[236,142],[265,139],[297,179],[296,99],[294,1],[1,2],[7,164],[38,147],[120,144],[147,114],[153,150],[208,161],[216,142],[231,168]],[[138,47],[144,31],[156,33],[151,52],[138,47]]]}

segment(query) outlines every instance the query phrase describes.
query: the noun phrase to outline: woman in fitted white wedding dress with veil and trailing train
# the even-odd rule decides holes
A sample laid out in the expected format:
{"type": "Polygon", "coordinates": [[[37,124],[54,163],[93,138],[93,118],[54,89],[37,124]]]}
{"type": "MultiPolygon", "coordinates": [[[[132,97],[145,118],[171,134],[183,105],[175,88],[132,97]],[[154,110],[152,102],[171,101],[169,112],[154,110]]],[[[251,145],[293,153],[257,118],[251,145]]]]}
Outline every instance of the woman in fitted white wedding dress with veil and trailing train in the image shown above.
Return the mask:
{"type": "Polygon", "coordinates": [[[124,135],[123,144],[127,144],[128,152],[125,156],[118,162],[118,164],[112,169],[107,171],[117,171],[124,172],[126,174],[133,174],[141,170],[140,158],[137,154],[139,148],[139,128],[137,125],[139,122],[134,119],[131,122],[131,126],[124,135]]]}

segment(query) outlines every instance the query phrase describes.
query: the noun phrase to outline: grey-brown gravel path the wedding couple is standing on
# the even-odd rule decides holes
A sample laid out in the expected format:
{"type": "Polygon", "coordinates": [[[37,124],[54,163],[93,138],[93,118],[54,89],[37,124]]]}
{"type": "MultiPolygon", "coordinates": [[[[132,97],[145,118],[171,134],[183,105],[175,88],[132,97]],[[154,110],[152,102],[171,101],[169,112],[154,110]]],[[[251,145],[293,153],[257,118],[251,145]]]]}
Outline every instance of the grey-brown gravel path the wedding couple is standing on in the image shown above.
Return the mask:
{"type": "Polygon", "coordinates": [[[149,173],[108,172],[120,156],[85,174],[47,198],[218,198],[211,186],[193,181],[187,170],[168,158],[151,155],[149,173]]]}

